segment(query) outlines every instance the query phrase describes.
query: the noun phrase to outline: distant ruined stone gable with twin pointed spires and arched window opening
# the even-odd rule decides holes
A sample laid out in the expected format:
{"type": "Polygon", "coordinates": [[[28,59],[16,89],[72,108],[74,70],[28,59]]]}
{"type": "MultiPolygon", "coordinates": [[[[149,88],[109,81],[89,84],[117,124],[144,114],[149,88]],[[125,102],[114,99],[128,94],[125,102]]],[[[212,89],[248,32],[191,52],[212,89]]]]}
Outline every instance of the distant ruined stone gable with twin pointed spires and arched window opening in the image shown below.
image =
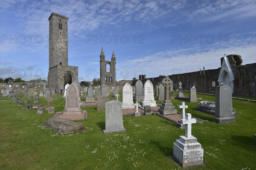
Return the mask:
{"type": "Polygon", "coordinates": [[[99,56],[100,63],[100,85],[108,85],[108,87],[116,86],[116,55],[112,53],[111,61],[105,60],[103,48],[99,56]]]}

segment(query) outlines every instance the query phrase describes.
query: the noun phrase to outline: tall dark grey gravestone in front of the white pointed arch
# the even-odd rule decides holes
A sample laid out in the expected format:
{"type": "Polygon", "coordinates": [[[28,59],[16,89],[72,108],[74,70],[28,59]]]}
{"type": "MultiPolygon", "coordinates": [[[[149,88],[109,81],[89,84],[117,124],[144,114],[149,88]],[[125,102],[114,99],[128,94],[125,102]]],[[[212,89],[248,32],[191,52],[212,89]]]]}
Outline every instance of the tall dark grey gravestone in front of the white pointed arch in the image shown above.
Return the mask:
{"type": "Polygon", "coordinates": [[[215,92],[215,117],[212,122],[215,123],[231,123],[235,122],[232,108],[232,88],[222,83],[216,86],[215,92]]]}

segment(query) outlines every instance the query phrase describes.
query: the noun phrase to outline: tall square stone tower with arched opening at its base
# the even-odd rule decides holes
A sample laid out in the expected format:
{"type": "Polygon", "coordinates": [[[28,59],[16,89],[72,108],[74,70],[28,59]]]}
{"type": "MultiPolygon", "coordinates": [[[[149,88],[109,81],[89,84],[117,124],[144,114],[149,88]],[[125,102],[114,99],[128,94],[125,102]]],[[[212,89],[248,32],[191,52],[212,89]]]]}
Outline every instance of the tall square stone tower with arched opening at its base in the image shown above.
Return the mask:
{"type": "Polygon", "coordinates": [[[48,88],[58,91],[65,85],[78,82],[78,67],[68,65],[67,20],[60,14],[49,17],[48,88]]]}

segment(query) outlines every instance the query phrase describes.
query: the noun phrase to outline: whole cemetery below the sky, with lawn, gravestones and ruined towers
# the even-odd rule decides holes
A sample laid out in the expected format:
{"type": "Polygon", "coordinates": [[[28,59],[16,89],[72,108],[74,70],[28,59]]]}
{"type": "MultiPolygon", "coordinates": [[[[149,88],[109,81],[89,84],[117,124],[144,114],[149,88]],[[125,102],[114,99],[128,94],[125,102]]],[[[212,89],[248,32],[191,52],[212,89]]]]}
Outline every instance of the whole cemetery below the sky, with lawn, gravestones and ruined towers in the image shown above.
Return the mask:
{"type": "Polygon", "coordinates": [[[101,48],[99,84],[83,86],[69,18],[48,20],[47,82],[0,84],[1,170],[256,170],[255,63],[224,54],[218,69],[117,81],[101,48]]]}

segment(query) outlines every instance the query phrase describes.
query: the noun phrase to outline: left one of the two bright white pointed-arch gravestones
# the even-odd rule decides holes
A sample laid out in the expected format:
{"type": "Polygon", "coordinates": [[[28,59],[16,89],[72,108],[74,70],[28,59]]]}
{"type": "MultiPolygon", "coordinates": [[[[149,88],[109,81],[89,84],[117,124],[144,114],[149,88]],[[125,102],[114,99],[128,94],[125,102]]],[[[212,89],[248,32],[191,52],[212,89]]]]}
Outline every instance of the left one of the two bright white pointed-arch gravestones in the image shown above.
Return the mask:
{"type": "Polygon", "coordinates": [[[132,88],[129,83],[126,83],[122,90],[122,108],[134,108],[132,88]]]}

